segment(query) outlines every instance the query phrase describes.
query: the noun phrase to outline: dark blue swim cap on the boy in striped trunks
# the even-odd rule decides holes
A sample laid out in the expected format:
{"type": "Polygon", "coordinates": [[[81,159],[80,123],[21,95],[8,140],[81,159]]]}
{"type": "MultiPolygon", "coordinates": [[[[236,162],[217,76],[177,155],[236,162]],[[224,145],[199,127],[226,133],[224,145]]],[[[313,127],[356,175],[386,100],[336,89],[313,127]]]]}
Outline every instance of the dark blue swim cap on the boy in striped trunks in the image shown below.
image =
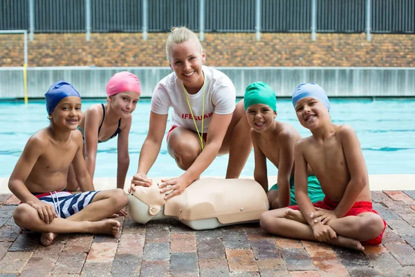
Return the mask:
{"type": "Polygon", "coordinates": [[[45,93],[46,110],[48,111],[48,114],[52,114],[52,111],[55,110],[57,103],[68,96],[77,96],[81,98],[80,93],[77,92],[72,84],[69,84],[68,82],[59,81],[52,84],[45,93]]]}

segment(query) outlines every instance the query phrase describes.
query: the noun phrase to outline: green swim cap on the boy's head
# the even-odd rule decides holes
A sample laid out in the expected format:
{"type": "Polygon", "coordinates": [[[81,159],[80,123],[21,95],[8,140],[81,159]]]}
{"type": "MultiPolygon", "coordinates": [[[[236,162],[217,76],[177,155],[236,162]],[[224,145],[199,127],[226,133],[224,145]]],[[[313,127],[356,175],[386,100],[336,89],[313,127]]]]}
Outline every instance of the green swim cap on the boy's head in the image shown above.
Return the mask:
{"type": "Polygon", "coordinates": [[[245,90],[245,95],[243,96],[245,110],[249,106],[256,104],[268,105],[271,109],[277,111],[275,91],[266,82],[253,82],[245,90]]]}

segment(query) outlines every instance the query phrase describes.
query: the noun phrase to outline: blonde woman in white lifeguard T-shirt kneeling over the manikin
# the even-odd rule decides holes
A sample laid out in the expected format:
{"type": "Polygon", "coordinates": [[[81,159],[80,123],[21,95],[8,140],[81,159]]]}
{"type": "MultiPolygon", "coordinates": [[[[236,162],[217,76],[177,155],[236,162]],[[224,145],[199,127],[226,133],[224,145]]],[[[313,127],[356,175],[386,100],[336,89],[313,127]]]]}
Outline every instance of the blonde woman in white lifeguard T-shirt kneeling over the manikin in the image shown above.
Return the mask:
{"type": "Polygon", "coordinates": [[[226,178],[238,178],[252,143],[243,101],[235,105],[236,91],[228,76],[203,65],[206,55],[198,37],[188,28],[173,28],[167,37],[166,52],[174,72],[158,82],[151,97],[149,133],[131,189],[150,186],[147,172],[156,161],[169,107],[173,107],[167,150],[185,172],[160,184],[161,193],[173,190],[166,196],[168,199],[181,194],[199,178],[217,155],[229,153],[226,178]]]}

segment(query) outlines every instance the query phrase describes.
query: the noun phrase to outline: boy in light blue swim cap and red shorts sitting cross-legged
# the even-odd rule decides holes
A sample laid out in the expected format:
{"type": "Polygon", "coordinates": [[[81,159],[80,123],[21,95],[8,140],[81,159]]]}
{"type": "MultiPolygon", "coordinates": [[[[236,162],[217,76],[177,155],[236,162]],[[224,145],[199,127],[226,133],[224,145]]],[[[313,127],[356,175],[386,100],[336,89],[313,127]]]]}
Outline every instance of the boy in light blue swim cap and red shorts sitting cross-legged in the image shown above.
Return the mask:
{"type": "Polygon", "coordinates": [[[363,251],[362,243],[380,244],[386,222],[372,209],[369,177],[356,132],[335,125],[322,87],[300,84],[293,93],[299,123],[312,136],[295,145],[295,199],[298,206],[261,215],[261,228],[287,238],[318,240],[363,251]],[[326,197],[311,204],[307,168],[311,166],[326,197]]]}

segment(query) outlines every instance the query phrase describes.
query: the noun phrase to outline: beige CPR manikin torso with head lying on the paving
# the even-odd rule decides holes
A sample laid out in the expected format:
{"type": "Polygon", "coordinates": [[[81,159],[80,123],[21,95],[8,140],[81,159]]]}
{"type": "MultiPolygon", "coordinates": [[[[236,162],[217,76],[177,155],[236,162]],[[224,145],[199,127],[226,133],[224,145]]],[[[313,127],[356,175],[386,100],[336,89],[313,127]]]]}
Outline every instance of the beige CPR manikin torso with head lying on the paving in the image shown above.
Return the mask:
{"type": "Polygon", "coordinates": [[[160,183],[153,179],[150,187],[136,186],[129,194],[129,215],[135,222],[175,218],[194,230],[205,230],[257,222],[268,211],[264,188],[252,179],[200,179],[167,201],[160,183]]]}

